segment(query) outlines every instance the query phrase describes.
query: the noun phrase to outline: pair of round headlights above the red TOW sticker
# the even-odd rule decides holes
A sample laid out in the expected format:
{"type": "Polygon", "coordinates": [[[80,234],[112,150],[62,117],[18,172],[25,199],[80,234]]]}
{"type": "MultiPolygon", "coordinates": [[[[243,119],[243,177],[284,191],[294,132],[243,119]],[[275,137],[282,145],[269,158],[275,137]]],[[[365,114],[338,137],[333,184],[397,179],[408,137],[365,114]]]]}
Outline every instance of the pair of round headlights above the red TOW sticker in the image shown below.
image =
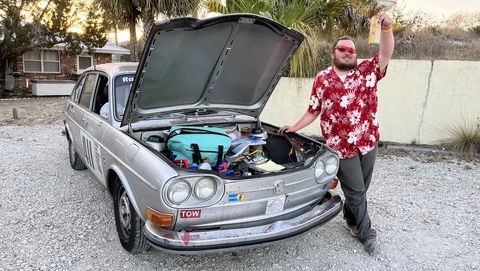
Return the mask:
{"type": "Polygon", "coordinates": [[[217,191],[217,183],[209,177],[202,177],[193,185],[187,180],[179,179],[167,188],[168,200],[173,204],[185,202],[190,195],[201,201],[209,200],[217,191]]]}

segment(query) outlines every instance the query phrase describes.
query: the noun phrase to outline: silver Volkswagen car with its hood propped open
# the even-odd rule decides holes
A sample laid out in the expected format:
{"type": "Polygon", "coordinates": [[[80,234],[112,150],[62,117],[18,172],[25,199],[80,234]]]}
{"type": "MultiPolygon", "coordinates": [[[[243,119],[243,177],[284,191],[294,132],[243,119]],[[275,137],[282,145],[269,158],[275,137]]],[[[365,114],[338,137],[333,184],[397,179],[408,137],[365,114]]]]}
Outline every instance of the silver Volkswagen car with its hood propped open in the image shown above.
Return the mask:
{"type": "Polygon", "coordinates": [[[154,25],[139,63],[85,71],[65,106],[73,169],[111,193],[122,246],[269,245],[334,218],[338,156],[260,113],[302,34],[264,17],[154,25]]]}

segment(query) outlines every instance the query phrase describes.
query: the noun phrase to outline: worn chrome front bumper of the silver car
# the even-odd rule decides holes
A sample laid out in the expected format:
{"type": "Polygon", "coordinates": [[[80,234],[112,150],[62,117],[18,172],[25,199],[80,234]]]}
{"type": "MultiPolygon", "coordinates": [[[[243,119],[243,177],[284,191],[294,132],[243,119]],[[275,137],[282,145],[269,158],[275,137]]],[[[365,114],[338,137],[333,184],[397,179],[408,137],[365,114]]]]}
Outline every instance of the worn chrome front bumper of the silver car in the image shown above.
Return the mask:
{"type": "Polygon", "coordinates": [[[225,252],[265,246],[311,231],[334,218],[342,210],[342,200],[339,195],[330,192],[326,197],[328,199],[322,200],[302,215],[249,228],[176,232],[155,228],[147,220],[145,236],[156,249],[179,254],[225,252]]]}

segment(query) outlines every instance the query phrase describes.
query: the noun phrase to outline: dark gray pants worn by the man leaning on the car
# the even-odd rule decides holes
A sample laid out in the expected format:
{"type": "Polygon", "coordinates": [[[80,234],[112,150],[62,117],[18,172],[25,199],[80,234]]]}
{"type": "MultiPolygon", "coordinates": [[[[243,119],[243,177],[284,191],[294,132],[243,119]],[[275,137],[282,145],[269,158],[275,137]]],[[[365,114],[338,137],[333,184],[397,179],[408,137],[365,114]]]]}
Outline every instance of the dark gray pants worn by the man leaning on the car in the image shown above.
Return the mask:
{"type": "Polygon", "coordinates": [[[377,148],[369,153],[340,159],[337,177],[345,195],[343,218],[350,226],[356,226],[360,241],[370,236],[372,224],[367,211],[367,190],[372,179],[373,166],[377,157],[377,148]]]}

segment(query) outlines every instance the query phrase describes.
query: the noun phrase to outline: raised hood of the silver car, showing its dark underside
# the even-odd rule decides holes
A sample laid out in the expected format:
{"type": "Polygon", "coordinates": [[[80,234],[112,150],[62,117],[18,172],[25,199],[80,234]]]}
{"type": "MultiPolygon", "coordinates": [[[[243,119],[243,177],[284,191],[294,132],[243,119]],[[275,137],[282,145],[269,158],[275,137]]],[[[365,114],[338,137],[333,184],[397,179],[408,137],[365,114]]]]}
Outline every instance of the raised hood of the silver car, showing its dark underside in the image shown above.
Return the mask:
{"type": "Polygon", "coordinates": [[[155,24],[122,126],[197,109],[257,117],[303,38],[295,30],[252,14],[155,24]]]}

